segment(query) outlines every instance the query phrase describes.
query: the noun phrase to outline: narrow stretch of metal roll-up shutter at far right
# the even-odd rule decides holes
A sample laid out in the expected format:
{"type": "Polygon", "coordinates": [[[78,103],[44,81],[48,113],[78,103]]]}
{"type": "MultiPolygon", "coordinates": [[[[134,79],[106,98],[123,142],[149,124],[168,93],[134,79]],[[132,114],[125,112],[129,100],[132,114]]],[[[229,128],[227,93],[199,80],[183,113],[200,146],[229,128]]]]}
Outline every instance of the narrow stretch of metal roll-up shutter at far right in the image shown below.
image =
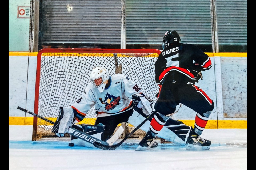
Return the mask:
{"type": "Polygon", "coordinates": [[[247,45],[247,0],[216,0],[219,45],[247,45]]]}

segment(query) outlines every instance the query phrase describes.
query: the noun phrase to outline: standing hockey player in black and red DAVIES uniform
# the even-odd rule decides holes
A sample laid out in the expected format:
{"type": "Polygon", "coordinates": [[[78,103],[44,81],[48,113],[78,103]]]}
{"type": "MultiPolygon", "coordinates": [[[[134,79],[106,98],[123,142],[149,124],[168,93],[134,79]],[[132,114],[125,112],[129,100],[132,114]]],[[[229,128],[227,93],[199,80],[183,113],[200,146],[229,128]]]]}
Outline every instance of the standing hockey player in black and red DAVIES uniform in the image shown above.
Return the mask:
{"type": "Polygon", "coordinates": [[[176,106],[186,105],[195,112],[194,128],[190,128],[186,149],[210,149],[211,141],[200,137],[214,108],[213,100],[195,85],[202,80],[202,71],[212,67],[207,54],[192,44],[180,43],[177,31],[167,31],[163,37],[163,51],[155,63],[155,81],[159,93],[155,103],[158,112],[151,120],[150,128],[136,150],[145,150],[148,141],[166,125],[168,117],[175,112],[176,106]]]}

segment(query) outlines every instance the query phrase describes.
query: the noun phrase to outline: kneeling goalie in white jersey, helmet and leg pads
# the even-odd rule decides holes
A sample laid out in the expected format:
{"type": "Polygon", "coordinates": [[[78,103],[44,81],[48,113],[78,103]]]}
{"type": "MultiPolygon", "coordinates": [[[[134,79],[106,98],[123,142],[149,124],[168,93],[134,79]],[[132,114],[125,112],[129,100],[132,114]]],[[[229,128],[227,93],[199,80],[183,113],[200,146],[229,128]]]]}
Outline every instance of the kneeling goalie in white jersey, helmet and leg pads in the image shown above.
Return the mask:
{"type": "MultiPolygon", "coordinates": [[[[91,82],[82,92],[81,97],[70,107],[60,107],[59,116],[52,132],[64,137],[70,127],[82,131],[89,136],[82,140],[71,135],[72,146],[94,147],[93,141],[99,139],[112,145],[122,134],[122,126],[114,133],[118,124],[126,122],[138,126],[153,112],[153,100],[146,97],[143,90],[131,79],[122,74],[109,75],[105,68],[95,67],[90,74],[91,82]],[[78,125],[86,113],[94,107],[97,116],[95,125],[78,125]],[[94,140],[91,140],[94,138],[94,140]]],[[[149,130],[150,119],[140,129],[149,130]]],[[[158,133],[158,137],[168,141],[186,145],[192,127],[169,118],[158,133]]],[[[154,147],[157,147],[155,142],[154,147]]]]}

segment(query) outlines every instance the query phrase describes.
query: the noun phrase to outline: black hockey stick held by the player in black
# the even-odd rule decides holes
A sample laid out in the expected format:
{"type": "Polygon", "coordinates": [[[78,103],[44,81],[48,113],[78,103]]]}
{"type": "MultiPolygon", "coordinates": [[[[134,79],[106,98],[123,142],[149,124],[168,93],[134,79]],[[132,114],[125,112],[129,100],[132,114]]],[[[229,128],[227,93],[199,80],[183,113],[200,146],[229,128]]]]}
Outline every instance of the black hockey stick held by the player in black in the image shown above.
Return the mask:
{"type": "Polygon", "coordinates": [[[139,124],[135,129],[133,129],[133,131],[131,131],[131,133],[129,133],[125,138],[123,138],[122,141],[120,141],[119,143],[115,144],[115,145],[104,145],[103,143],[99,143],[97,141],[95,141],[93,143],[93,145],[97,148],[100,149],[104,149],[104,150],[115,150],[116,148],[118,148],[124,141],[126,141],[126,139],[128,139],[136,130],[138,130],[142,125],[145,124],[146,121],[148,121],[151,117],[153,117],[155,115],[157,111],[152,112],[145,120],[143,120],[141,122],[141,124],[139,124]]]}

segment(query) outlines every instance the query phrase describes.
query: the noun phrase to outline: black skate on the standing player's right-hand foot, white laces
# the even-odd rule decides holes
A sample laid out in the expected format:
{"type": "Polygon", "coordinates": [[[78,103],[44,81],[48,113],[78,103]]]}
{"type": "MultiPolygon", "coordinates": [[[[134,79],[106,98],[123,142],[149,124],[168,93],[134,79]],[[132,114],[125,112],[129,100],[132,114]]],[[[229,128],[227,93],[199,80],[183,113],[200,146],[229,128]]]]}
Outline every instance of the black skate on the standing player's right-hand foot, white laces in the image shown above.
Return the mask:
{"type": "Polygon", "coordinates": [[[200,135],[194,132],[191,126],[189,136],[187,138],[186,150],[209,150],[211,141],[201,138],[200,135]]]}

